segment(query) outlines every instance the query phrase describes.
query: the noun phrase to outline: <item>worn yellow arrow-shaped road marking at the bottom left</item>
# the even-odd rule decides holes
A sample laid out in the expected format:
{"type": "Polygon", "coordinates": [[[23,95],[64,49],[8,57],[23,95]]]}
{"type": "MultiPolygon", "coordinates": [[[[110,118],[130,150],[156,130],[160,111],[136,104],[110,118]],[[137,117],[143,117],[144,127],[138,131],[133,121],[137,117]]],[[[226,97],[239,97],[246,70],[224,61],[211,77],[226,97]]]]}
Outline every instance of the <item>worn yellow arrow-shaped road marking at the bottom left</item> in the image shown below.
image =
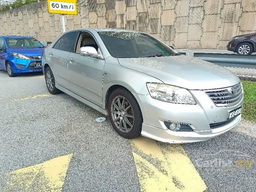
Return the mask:
{"type": "Polygon", "coordinates": [[[72,155],[56,157],[44,163],[4,174],[6,179],[4,192],[61,192],[72,155]]]}

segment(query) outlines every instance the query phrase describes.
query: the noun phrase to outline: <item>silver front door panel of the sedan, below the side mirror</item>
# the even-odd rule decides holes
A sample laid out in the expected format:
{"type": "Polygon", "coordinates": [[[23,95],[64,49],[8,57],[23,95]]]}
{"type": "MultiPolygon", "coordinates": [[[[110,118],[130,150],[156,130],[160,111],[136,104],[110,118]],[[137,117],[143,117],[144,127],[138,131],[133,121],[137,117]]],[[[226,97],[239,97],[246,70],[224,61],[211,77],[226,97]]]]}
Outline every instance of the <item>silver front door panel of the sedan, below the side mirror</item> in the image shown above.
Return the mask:
{"type": "Polygon", "coordinates": [[[68,79],[71,91],[102,107],[102,79],[105,60],[77,53],[68,56],[68,79]]]}

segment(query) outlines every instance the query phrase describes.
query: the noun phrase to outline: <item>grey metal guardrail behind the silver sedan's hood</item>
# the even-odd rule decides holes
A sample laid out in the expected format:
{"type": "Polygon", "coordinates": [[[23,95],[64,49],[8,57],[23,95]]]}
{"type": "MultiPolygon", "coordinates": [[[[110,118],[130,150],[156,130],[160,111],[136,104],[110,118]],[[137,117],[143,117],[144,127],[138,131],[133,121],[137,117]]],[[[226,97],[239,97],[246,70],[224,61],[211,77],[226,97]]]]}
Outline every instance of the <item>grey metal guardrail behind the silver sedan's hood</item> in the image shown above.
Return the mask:
{"type": "Polygon", "coordinates": [[[180,54],[202,59],[224,67],[241,67],[256,69],[256,55],[240,55],[226,53],[197,53],[179,51],[180,54]]]}

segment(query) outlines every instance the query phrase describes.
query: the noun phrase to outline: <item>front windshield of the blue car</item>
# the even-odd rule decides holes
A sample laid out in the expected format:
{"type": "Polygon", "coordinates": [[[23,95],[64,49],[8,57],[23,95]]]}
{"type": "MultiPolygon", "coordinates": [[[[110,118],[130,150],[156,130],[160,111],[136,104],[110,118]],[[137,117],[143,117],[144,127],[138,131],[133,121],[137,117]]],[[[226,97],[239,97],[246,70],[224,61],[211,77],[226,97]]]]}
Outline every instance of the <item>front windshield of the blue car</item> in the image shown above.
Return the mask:
{"type": "Polygon", "coordinates": [[[42,48],[44,47],[34,38],[6,38],[6,43],[10,48],[42,48]]]}

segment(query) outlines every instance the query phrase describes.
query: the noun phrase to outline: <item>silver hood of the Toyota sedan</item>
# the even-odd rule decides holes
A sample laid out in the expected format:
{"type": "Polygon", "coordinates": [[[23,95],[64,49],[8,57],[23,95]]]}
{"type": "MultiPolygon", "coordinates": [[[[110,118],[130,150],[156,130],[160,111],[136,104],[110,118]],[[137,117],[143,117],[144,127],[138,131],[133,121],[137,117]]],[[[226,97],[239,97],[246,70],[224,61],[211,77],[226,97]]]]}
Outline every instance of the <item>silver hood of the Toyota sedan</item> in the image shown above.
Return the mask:
{"type": "Polygon", "coordinates": [[[234,73],[223,67],[184,55],[118,58],[118,61],[124,67],[153,76],[166,84],[187,89],[224,88],[240,82],[234,73]]]}

